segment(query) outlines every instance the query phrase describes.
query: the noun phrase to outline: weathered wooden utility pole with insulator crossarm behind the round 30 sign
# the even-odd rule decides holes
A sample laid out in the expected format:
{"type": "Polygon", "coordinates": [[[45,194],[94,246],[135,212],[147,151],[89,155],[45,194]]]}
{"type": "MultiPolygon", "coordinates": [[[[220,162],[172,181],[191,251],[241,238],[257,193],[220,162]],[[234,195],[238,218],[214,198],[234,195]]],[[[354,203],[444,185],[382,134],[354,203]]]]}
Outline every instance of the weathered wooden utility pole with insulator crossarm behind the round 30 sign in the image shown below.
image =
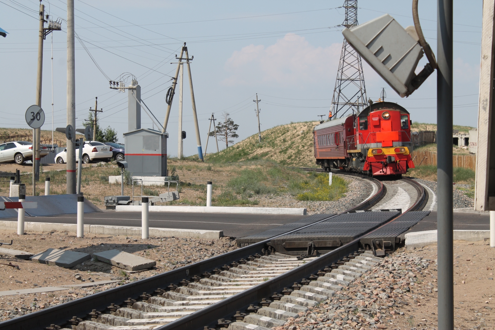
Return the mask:
{"type": "MultiPolygon", "coordinates": [[[[36,78],[36,105],[41,106],[41,91],[43,80],[43,42],[52,31],[60,31],[62,28],[58,22],[45,20],[45,5],[40,0],[40,29],[38,39],[38,70],[36,78]],[[45,28],[45,22],[48,27],[45,28]]],[[[41,128],[33,129],[33,196],[36,195],[36,181],[40,179],[40,140],[41,128]]]]}

